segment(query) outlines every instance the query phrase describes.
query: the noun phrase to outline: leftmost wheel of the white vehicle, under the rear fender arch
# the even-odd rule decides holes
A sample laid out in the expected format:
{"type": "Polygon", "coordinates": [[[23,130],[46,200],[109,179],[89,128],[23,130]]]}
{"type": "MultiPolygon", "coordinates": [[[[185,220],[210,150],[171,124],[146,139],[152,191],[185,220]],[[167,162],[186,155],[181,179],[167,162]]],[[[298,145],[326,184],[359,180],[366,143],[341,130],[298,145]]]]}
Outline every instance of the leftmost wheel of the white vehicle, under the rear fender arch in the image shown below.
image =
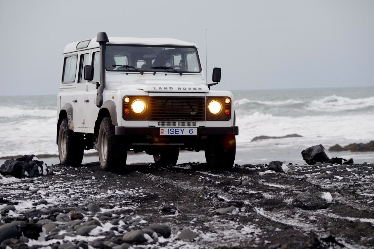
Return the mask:
{"type": "Polygon", "coordinates": [[[63,119],[58,132],[58,155],[61,165],[80,166],[83,160],[83,133],[69,129],[68,119],[63,119]]]}

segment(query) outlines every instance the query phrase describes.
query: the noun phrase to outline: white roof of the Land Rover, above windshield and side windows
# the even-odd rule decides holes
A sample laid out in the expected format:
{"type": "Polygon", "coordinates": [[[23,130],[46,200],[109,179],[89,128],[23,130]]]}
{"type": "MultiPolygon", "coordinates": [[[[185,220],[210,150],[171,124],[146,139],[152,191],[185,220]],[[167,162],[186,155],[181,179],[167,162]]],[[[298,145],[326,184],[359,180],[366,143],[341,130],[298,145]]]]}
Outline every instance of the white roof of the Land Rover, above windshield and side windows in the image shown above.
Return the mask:
{"type": "MultiPolygon", "coordinates": [[[[108,37],[109,42],[108,43],[121,43],[121,44],[147,44],[147,45],[179,45],[179,46],[195,46],[193,43],[184,42],[177,39],[171,39],[171,38],[135,38],[135,37],[108,37]]],[[[85,50],[85,49],[92,49],[95,47],[99,47],[99,43],[96,42],[96,37],[89,39],[91,40],[88,44],[88,47],[83,49],[77,49],[77,44],[83,41],[79,42],[72,42],[66,45],[64,49],[64,53],[70,53],[74,51],[79,50],[85,50]]]]}

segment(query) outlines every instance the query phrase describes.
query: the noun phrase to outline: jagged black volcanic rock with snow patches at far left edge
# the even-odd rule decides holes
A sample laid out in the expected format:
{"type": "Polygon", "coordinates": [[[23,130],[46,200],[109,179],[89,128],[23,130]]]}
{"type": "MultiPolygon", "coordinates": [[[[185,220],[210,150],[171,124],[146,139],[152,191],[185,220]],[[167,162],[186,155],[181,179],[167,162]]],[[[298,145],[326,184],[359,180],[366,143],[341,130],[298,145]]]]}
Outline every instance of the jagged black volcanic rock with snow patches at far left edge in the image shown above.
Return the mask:
{"type": "Polygon", "coordinates": [[[15,178],[43,176],[44,171],[48,172],[47,166],[43,165],[43,161],[33,160],[34,157],[34,155],[24,155],[16,160],[6,160],[0,167],[1,175],[12,175],[15,178]]]}

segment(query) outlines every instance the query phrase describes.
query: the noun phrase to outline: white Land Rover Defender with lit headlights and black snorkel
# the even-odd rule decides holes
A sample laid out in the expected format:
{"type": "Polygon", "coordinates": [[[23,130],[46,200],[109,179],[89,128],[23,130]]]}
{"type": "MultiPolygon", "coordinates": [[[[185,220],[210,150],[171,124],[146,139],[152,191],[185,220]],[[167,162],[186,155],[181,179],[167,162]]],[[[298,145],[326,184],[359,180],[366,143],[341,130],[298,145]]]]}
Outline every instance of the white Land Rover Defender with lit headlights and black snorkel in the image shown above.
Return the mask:
{"type": "Polygon", "coordinates": [[[228,169],[238,127],[233,95],[210,90],[195,44],[175,39],[108,37],[70,43],[57,95],[61,164],[80,165],[83,150],[99,151],[103,170],[145,151],[175,165],[179,151],[205,151],[209,166],[228,169]]]}

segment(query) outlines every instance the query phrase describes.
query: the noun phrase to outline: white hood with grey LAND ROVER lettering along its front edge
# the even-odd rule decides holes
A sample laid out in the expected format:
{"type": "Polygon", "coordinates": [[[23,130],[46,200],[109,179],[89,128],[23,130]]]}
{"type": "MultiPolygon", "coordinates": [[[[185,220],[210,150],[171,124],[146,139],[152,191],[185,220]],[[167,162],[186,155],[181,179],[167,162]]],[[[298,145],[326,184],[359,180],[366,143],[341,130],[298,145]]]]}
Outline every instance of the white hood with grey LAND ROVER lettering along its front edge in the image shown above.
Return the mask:
{"type": "Polygon", "coordinates": [[[186,80],[134,80],[133,82],[109,83],[108,90],[142,89],[145,92],[209,92],[204,83],[186,80]]]}

